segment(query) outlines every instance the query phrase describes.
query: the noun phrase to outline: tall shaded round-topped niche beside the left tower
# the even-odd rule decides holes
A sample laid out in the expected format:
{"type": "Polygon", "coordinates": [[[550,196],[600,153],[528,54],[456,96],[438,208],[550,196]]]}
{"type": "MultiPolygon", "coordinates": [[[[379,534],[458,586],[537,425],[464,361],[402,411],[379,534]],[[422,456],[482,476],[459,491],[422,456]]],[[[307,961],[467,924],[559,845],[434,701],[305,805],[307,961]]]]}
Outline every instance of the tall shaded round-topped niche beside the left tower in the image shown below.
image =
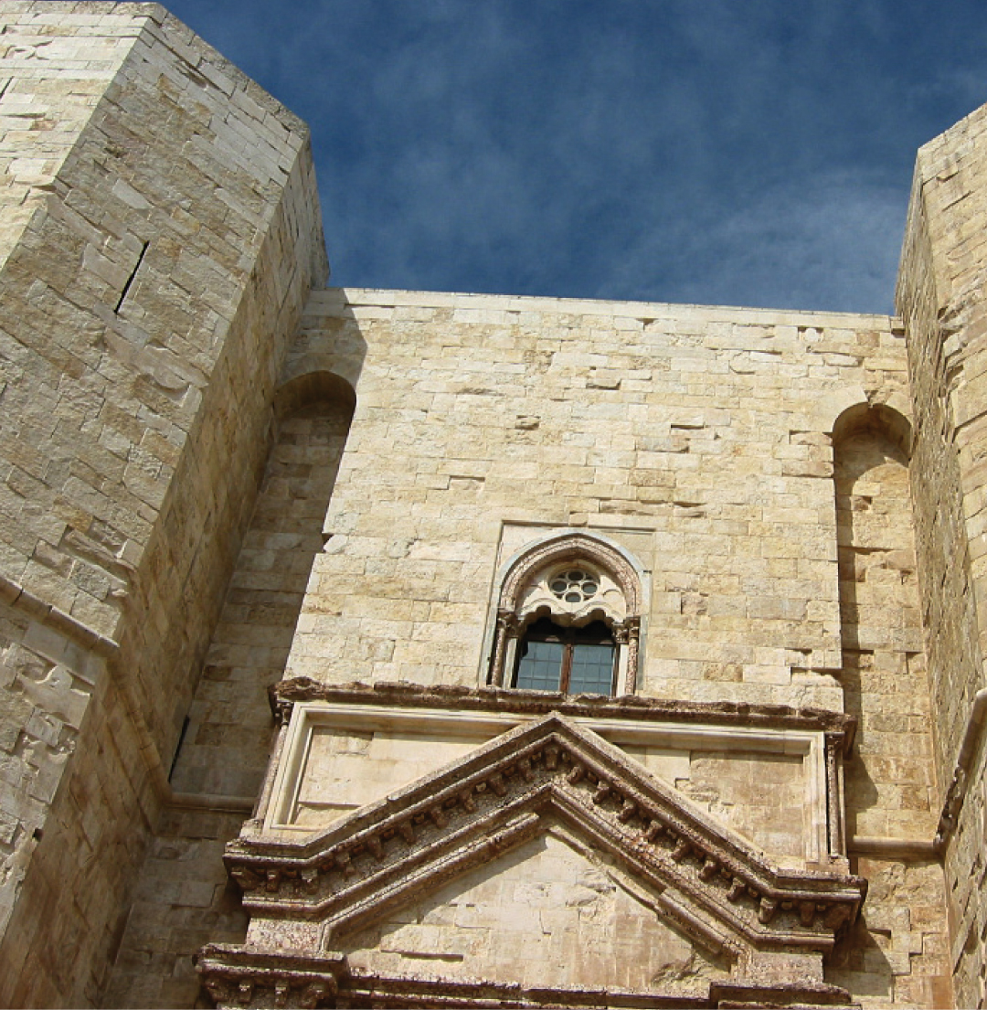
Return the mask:
{"type": "Polygon", "coordinates": [[[172,773],[179,793],[257,797],[282,677],[356,397],[326,373],[282,388],[276,431],[172,773]]]}

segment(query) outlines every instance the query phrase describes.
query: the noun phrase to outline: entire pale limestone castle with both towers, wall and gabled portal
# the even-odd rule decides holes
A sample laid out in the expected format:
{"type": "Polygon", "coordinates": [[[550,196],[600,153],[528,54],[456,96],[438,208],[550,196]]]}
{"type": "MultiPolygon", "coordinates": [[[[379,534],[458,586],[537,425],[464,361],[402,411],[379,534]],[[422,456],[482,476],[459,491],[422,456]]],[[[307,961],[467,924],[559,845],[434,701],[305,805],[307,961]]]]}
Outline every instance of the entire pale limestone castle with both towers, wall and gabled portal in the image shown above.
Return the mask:
{"type": "Polygon", "coordinates": [[[897,316],[341,290],[163,8],[0,24],[0,1004],[985,1005],[987,108],[897,316]]]}

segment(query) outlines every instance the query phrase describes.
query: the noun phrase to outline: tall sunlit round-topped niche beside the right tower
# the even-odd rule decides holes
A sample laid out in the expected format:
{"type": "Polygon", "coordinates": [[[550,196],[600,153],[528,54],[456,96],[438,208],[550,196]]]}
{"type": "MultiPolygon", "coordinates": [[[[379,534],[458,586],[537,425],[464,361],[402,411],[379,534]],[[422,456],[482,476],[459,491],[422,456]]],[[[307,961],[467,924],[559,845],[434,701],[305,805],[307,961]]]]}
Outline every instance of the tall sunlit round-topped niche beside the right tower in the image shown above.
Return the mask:
{"type": "Polygon", "coordinates": [[[933,782],[907,422],[890,408],[852,411],[833,435],[842,681],[858,719],[848,830],[924,837],[933,782]]]}

